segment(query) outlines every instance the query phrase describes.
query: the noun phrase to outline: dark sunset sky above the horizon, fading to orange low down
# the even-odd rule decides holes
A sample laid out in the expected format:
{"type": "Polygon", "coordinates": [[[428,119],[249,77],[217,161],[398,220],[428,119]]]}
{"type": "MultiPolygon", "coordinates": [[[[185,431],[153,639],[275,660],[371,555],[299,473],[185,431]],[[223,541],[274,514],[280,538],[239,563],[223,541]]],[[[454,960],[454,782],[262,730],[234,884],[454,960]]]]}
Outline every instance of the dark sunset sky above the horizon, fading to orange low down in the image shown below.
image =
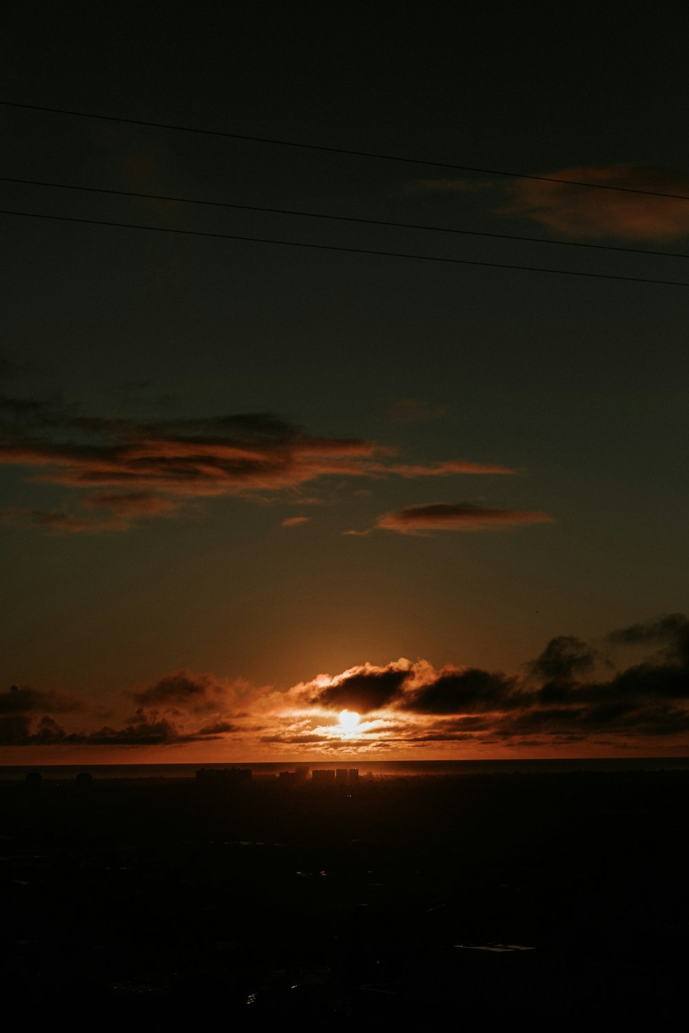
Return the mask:
{"type": "Polygon", "coordinates": [[[195,13],[3,13],[0,762],[685,755],[686,11],[195,13]]]}

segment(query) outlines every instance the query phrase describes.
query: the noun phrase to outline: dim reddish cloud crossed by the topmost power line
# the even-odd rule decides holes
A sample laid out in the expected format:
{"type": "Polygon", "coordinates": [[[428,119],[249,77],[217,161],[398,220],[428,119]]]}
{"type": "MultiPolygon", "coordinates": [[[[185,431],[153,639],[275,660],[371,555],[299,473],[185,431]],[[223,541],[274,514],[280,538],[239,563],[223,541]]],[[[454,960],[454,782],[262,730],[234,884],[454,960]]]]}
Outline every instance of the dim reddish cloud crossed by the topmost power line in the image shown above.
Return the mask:
{"type": "MultiPolygon", "coordinates": [[[[601,186],[625,187],[689,196],[689,175],[645,165],[593,165],[562,168],[550,177],[601,186]]],[[[689,232],[689,201],[641,193],[586,189],[516,180],[512,201],[500,214],[532,219],[554,234],[574,240],[619,240],[662,243],[689,232]]]]}

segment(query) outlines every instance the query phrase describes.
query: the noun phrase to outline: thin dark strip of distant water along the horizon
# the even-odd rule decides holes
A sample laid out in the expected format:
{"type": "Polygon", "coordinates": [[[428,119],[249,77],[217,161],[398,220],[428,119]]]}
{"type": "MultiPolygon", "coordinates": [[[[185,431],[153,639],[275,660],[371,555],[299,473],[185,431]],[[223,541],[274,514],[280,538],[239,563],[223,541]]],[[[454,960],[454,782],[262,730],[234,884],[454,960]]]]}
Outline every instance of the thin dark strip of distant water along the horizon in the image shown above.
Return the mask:
{"type": "MultiPolygon", "coordinates": [[[[94,779],[186,779],[194,778],[199,766],[214,769],[251,768],[254,778],[275,778],[278,772],[294,771],[301,761],[254,763],[234,761],[227,764],[22,764],[0,765],[0,781],[24,779],[28,772],[40,772],[44,779],[73,780],[82,772],[94,779]]],[[[361,760],[316,761],[309,769],[358,768],[359,775],[371,772],[377,777],[413,775],[497,775],[557,774],[559,772],[659,772],[689,771],[689,757],[585,757],[547,760],[361,760]]]]}

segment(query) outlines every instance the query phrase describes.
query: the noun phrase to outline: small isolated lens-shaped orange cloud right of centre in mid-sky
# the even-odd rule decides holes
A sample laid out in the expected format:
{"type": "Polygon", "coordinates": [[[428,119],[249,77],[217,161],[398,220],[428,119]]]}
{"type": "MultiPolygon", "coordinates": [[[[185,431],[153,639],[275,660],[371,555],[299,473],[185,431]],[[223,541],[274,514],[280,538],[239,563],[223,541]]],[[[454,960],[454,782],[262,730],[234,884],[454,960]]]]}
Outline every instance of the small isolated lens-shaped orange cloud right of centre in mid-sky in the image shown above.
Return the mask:
{"type": "Polygon", "coordinates": [[[552,523],[553,518],[541,512],[493,509],[471,502],[433,502],[383,513],[375,526],[400,534],[416,534],[422,531],[494,531],[552,523]]]}

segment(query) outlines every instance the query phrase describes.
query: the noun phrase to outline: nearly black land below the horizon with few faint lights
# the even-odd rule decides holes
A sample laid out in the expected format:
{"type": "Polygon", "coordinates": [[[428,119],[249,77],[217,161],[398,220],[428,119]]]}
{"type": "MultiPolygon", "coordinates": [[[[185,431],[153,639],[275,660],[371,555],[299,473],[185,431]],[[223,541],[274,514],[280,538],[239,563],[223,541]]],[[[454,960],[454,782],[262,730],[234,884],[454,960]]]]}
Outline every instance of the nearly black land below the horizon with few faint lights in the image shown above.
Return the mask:
{"type": "Polygon", "coordinates": [[[685,772],[0,783],[5,1013],[674,1028],[688,819],[685,772]]]}

